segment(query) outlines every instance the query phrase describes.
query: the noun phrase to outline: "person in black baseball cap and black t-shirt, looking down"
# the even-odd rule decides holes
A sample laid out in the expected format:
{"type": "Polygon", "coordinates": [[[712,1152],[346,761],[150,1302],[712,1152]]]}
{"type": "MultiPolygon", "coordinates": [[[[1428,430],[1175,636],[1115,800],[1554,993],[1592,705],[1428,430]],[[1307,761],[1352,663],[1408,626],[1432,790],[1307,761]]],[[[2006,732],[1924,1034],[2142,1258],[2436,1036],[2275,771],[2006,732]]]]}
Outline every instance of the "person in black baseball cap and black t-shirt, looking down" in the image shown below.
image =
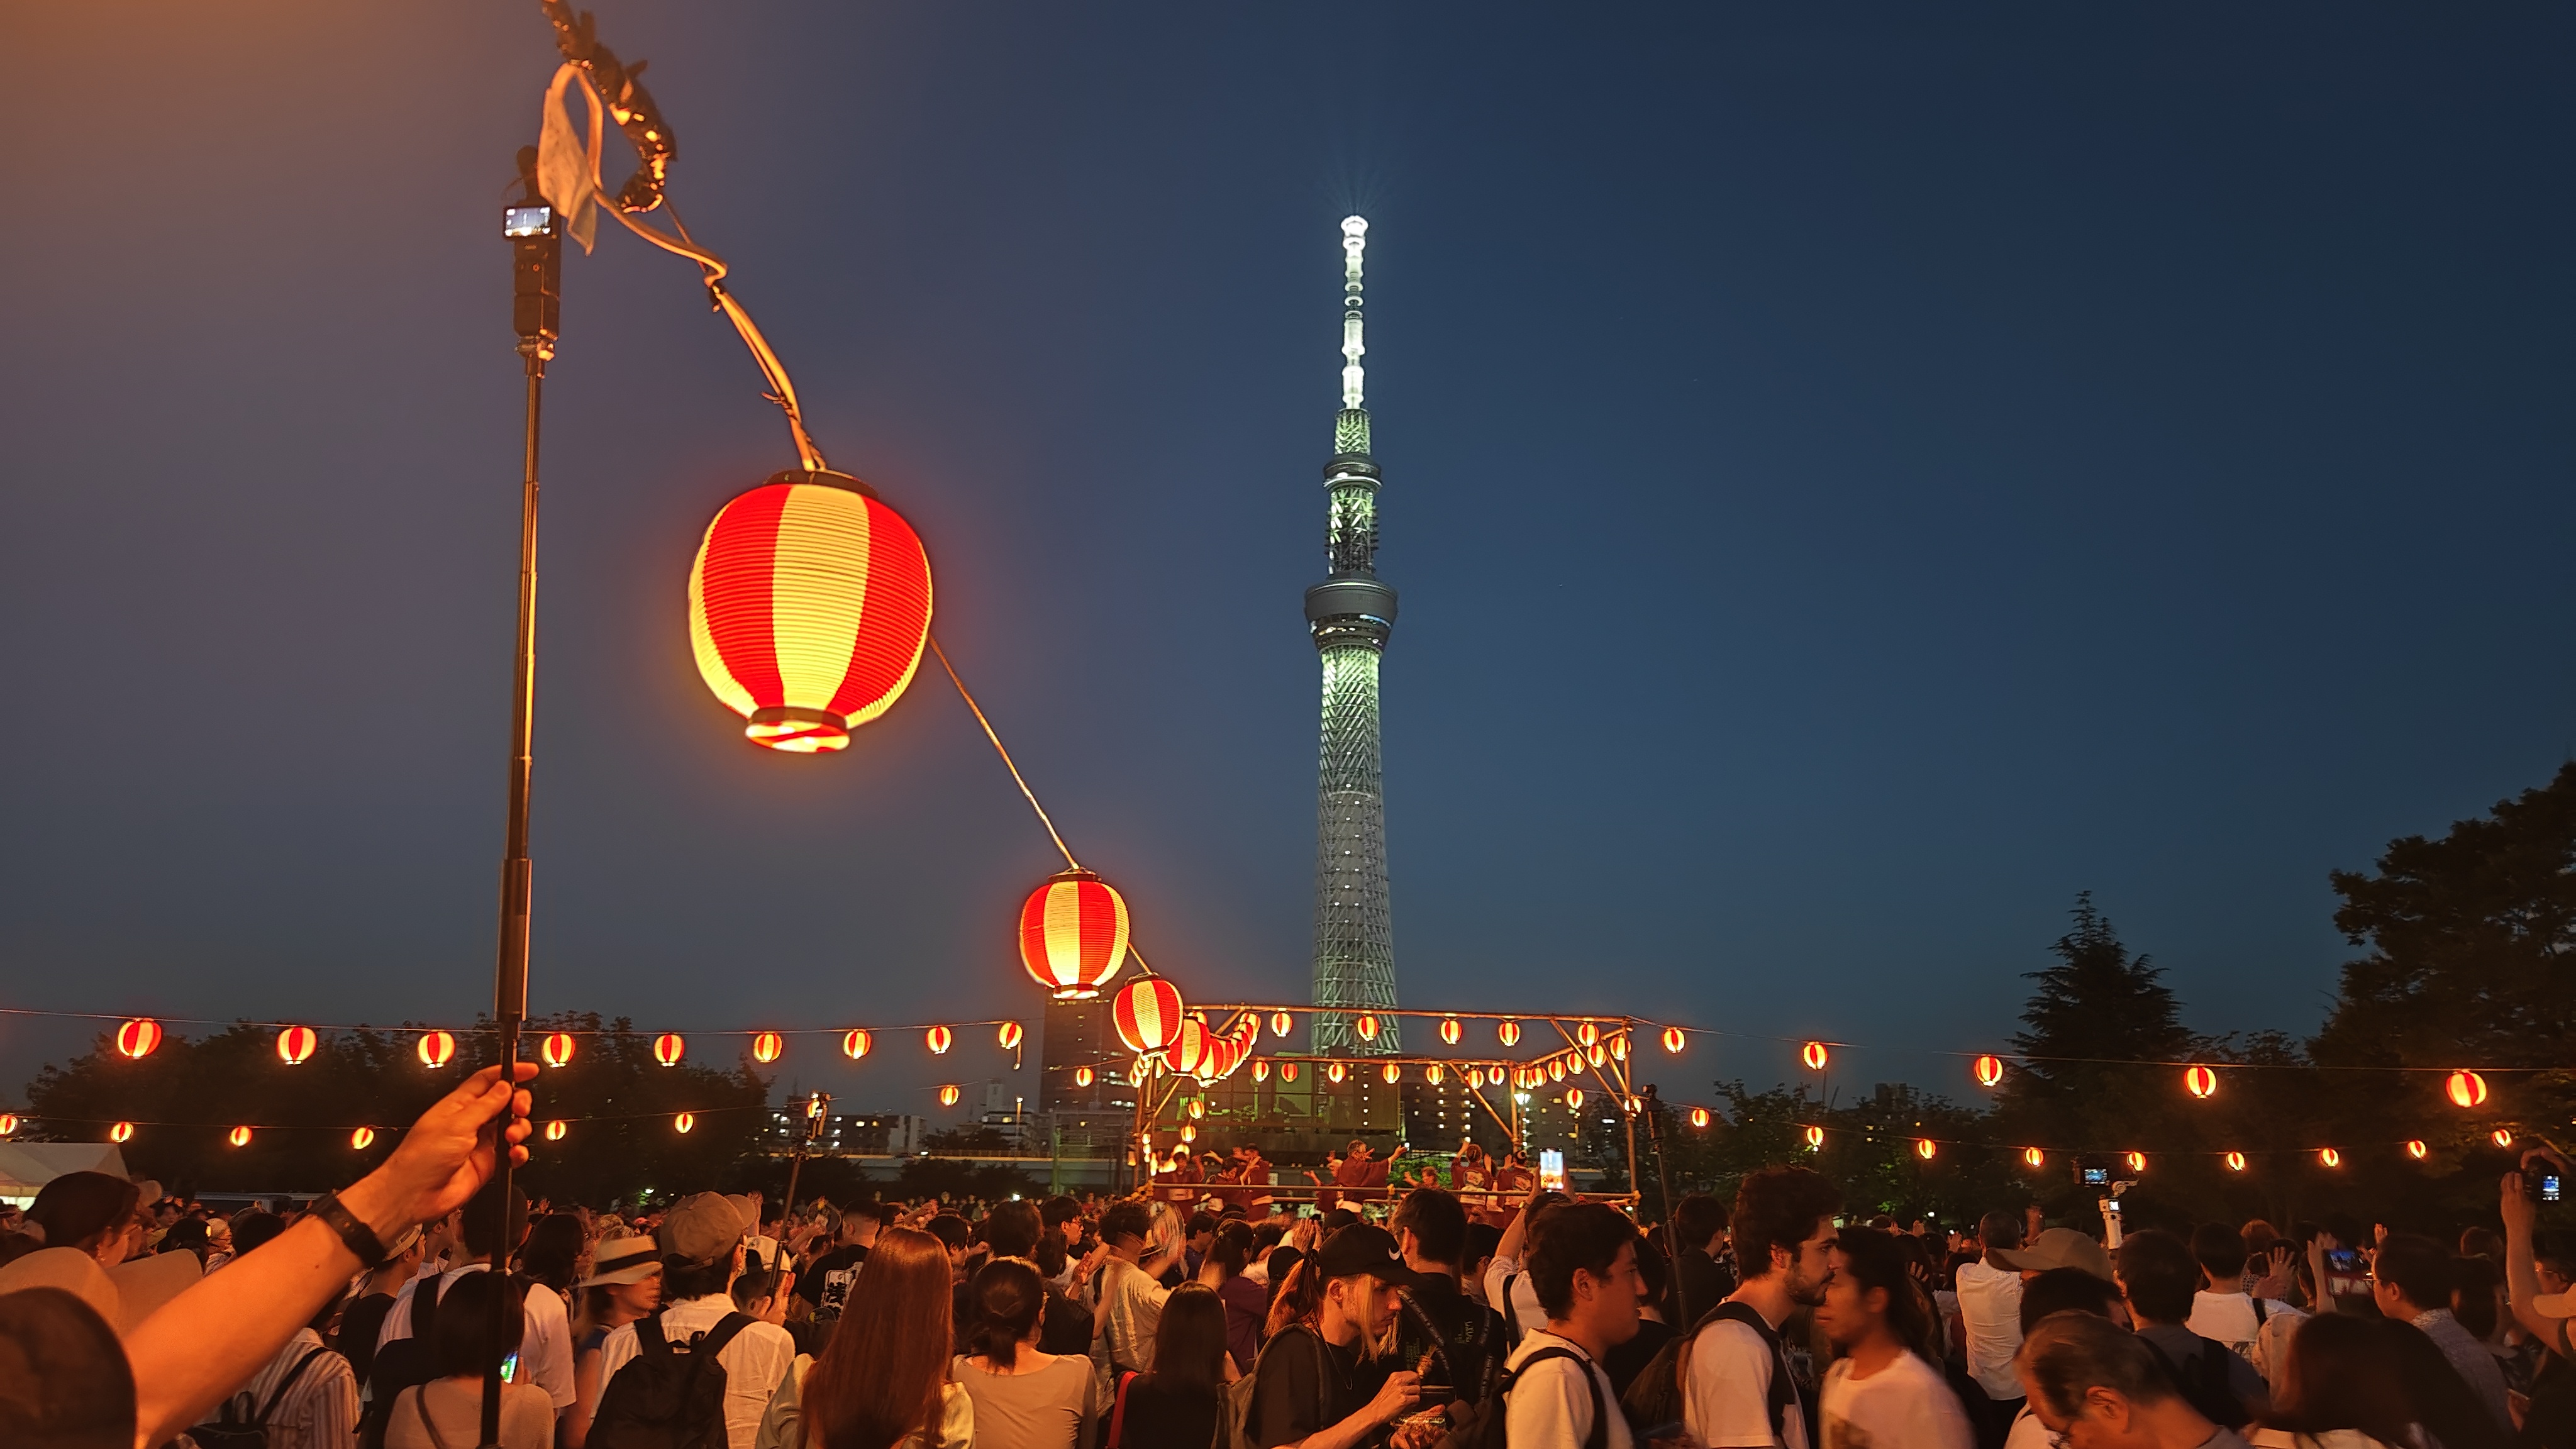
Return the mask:
{"type": "Polygon", "coordinates": [[[1422,1374],[1399,1366],[1370,1385],[1363,1348],[1401,1312],[1399,1289],[1419,1281],[1404,1266],[1404,1248],[1383,1227],[1352,1222],[1324,1238],[1273,1305],[1273,1315],[1285,1312],[1291,1323],[1270,1336],[1252,1366],[1252,1444],[1275,1449],[1303,1444],[1314,1434],[1327,1434],[1332,1444],[1358,1444],[1412,1410],[1422,1397],[1422,1374]]]}

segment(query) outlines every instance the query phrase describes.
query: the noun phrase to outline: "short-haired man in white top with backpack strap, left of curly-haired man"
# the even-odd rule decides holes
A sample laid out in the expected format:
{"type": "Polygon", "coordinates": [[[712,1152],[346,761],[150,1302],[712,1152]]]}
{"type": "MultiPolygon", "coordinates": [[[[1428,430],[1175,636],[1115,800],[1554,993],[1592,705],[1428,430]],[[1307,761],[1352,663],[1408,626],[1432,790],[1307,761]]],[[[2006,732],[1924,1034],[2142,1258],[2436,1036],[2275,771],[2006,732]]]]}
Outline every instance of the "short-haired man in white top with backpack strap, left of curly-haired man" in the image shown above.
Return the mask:
{"type": "Polygon", "coordinates": [[[1520,1338],[1504,1361],[1512,1449],[1633,1449],[1618,1390],[1602,1372],[1610,1348],[1636,1338],[1636,1225],[1602,1201],[1546,1214],[1530,1250],[1530,1279],[1548,1307],[1546,1328],[1520,1338]]]}

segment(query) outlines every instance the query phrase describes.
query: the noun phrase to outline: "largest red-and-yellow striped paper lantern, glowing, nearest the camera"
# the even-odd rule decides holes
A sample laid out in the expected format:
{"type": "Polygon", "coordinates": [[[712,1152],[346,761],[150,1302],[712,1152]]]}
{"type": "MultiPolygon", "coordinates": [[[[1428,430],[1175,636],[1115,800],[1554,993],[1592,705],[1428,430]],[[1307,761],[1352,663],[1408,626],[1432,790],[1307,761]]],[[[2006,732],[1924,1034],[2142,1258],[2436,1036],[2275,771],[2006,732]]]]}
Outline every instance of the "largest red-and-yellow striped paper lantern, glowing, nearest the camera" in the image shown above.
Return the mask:
{"type": "Polygon", "coordinates": [[[845,750],[904,696],[927,639],[922,539],[848,474],[773,474],[716,511],[688,570],[698,678],[755,745],[845,750]]]}

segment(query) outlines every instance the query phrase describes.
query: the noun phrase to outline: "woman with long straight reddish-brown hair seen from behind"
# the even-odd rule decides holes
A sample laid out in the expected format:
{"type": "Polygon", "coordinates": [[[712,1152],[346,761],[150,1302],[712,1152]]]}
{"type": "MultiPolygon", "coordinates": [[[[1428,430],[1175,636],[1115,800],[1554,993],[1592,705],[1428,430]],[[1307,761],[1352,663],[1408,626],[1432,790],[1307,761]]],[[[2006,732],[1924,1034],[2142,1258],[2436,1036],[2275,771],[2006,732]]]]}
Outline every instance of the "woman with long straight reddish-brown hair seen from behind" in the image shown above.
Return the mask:
{"type": "Polygon", "coordinates": [[[951,1333],[948,1245],[878,1232],[832,1343],[778,1385],[760,1449],[969,1449],[974,1400],[948,1377],[951,1333]]]}

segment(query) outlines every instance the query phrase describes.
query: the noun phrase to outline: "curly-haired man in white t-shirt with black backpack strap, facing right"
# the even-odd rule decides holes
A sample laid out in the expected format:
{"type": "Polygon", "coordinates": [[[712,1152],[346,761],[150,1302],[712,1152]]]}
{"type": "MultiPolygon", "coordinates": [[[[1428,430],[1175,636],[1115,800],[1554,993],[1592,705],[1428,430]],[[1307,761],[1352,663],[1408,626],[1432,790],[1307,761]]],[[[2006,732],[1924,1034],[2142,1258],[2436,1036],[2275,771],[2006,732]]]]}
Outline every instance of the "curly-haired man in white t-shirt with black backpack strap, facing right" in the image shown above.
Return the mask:
{"type": "Polygon", "coordinates": [[[1824,1302],[1839,1209],[1842,1191],[1811,1168],[1762,1168],[1736,1189],[1726,1235],[1744,1279],[1682,1348],[1682,1428],[1708,1449],[1811,1446],[1780,1323],[1824,1302]]]}

